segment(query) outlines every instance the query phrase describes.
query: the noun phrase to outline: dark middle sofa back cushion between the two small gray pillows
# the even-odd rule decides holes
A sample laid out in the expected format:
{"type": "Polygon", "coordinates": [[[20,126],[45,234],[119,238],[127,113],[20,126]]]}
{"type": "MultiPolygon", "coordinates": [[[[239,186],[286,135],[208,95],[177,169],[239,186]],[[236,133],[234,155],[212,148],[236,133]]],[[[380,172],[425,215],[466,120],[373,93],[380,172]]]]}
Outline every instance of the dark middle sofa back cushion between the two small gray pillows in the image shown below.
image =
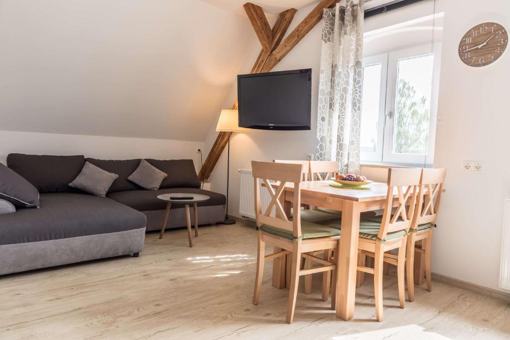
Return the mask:
{"type": "Polygon", "coordinates": [[[86,161],[92,163],[98,168],[119,175],[119,177],[113,181],[110,189],[108,189],[109,193],[116,191],[143,189],[142,187],[134,184],[131,180],[127,180],[127,177],[129,177],[140,165],[141,161],[140,159],[117,161],[117,160],[96,160],[94,158],[87,158],[86,161]]]}

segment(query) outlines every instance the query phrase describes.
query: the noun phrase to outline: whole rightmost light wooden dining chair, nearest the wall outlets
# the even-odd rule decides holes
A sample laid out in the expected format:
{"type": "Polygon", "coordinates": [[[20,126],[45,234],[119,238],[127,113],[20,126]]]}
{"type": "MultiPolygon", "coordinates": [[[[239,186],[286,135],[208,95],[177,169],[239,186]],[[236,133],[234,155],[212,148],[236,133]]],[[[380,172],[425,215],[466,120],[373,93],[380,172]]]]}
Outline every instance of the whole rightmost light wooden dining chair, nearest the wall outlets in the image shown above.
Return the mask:
{"type": "MultiPolygon", "coordinates": [[[[423,264],[420,268],[424,270],[420,275],[425,274],[427,279],[427,291],[432,290],[430,277],[430,253],[432,249],[432,233],[436,226],[436,219],[441,202],[441,193],[443,183],[446,177],[446,169],[423,169],[418,199],[416,203],[415,214],[409,229],[410,234],[407,238],[407,295],[409,301],[414,301],[414,258],[415,253],[420,253],[423,258],[423,264]],[[416,247],[416,242],[421,241],[420,247],[416,247]],[[424,266],[423,266],[424,265],[424,266]]],[[[422,276],[423,277],[423,276],[422,276]]]]}

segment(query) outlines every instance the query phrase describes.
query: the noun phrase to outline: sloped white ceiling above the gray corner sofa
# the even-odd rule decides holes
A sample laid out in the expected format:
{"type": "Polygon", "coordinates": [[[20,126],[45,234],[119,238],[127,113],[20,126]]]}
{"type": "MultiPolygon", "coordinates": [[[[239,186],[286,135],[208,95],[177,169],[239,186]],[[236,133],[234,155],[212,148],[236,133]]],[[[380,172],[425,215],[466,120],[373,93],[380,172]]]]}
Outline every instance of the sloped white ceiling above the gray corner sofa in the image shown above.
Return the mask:
{"type": "Polygon", "coordinates": [[[0,130],[203,141],[256,43],[199,0],[1,1],[0,130]]]}

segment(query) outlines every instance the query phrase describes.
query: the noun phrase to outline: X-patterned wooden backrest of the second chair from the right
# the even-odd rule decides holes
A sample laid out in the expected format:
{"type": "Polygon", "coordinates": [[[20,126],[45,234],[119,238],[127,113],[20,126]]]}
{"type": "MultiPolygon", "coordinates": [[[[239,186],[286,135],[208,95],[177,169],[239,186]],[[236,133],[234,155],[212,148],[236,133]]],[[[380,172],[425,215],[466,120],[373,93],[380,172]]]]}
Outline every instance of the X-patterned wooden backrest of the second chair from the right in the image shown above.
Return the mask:
{"type": "Polygon", "coordinates": [[[381,227],[377,238],[385,240],[389,232],[409,231],[415,213],[418,186],[420,184],[421,169],[390,168],[388,169],[388,194],[382,214],[381,227]],[[392,208],[397,191],[398,205],[395,214],[392,208]]]}

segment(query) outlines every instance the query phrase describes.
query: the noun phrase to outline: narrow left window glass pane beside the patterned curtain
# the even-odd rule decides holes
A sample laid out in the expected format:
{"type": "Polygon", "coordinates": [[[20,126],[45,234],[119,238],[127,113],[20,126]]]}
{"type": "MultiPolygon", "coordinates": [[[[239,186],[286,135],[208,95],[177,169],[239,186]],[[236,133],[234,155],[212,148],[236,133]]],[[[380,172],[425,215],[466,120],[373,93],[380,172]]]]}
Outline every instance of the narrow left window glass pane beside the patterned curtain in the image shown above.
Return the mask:
{"type": "Polygon", "coordinates": [[[361,152],[375,152],[381,85],[381,64],[363,68],[363,102],[361,112],[361,152]]]}

